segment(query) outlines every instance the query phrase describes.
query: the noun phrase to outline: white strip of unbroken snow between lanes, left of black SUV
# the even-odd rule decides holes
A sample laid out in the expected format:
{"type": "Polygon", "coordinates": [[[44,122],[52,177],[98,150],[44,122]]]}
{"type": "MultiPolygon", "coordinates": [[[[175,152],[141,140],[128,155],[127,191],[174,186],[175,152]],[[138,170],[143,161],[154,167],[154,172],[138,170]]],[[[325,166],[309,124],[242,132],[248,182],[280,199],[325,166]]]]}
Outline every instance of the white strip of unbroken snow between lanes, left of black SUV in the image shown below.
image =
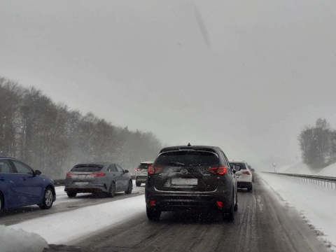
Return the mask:
{"type": "Polygon", "coordinates": [[[73,239],[134,218],[139,213],[146,216],[144,195],[132,197],[132,200],[115,200],[73,211],[50,214],[10,227],[15,230],[35,232],[48,241],[48,244],[66,244],[73,239]]]}

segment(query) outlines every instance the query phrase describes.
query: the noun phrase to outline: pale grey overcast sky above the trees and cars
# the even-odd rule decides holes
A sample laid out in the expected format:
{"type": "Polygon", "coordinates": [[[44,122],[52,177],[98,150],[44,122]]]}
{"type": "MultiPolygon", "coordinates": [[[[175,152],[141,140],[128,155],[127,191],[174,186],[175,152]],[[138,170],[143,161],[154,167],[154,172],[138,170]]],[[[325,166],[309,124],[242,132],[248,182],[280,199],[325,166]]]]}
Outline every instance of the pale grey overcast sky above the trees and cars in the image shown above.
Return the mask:
{"type": "Polygon", "coordinates": [[[336,1],[0,0],[0,75],[164,144],[300,161],[336,128],[336,1]]]}

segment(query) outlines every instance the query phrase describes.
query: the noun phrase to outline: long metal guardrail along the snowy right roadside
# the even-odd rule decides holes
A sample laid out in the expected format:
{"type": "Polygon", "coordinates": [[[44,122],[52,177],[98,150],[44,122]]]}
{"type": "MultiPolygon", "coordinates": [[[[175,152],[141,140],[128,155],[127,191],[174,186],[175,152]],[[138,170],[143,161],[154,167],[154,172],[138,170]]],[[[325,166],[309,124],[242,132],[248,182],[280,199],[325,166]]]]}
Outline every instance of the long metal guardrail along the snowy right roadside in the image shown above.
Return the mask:
{"type": "Polygon", "coordinates": [[[264,173],[290,176],[292,179],[302,181],[304,183],[309,183],[316,186],[323,186],[325,188],[336,190],[336,177],[332,176],[315,176],[315,175],[286,174],[286,173],[274,173],[274,172],[264,172],[264,173]]]}

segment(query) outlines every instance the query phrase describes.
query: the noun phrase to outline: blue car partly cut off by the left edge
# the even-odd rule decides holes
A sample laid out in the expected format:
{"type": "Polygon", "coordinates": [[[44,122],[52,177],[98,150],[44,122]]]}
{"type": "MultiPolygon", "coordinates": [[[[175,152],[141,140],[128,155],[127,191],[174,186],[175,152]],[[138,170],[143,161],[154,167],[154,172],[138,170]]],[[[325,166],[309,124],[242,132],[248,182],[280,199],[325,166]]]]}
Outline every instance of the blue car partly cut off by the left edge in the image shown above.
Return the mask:
{"type": "Polygon", "coordinates": [[[50,209],[55,200],[52,179],[16,158],[0,156],[0,210],[32,204],[50,209]]]}

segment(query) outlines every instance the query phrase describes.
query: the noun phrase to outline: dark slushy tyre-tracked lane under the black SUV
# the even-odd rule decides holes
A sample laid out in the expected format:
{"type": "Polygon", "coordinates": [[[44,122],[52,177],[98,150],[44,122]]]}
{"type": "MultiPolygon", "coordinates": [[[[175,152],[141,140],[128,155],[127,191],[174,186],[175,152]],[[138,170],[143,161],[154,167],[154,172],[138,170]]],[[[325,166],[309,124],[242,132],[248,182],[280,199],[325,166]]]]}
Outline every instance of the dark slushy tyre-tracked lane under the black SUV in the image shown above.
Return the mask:
{"type": "MultiPolygon", "coordinates": [[[[140,192],[141,193],[141,192],[140,192]]],[[[255,176],[252,193],[239,191],[235,221],[200,213],[163,213],[151,222],[144,209],[134,218],[44,252],[78,251],[330,251],[300,214],[255,176]]],[[[132,198],[130,198],[132,200],[132,198]]]]}

